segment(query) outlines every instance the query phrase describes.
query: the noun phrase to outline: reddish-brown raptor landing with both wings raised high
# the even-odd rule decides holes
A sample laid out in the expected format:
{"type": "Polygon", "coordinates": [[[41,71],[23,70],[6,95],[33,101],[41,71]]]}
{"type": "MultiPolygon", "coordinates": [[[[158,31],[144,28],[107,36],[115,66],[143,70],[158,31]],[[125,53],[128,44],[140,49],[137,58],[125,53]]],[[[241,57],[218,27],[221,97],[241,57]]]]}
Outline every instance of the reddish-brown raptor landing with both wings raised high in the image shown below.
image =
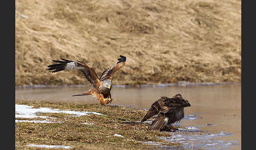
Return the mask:
{"type": "Polygon", "coordinates": [[[69,71],[69,70],[80,70],[85,78],[92,84],[92,88],[87,92],[82,94],[72,95],[74,96],[82,96],[82,95],[92,95],[99,100],[101,105],[108,104],[112,102],[111,97],[111,88],[112,88],[112,80],[114,73],[119,70],[121,67],[125,65],[126,57],[120,55],[121,58],[117,59],[118,62],[110,68],[107,68],[102,72],[100,78],[97,76],[94,69],[88,64],[81,61],[72,61],[61,58],[61,60],[52,60],[53,65],[47,66],[47,70],[53,70],[52,72],[58,71],[69,71]]]}

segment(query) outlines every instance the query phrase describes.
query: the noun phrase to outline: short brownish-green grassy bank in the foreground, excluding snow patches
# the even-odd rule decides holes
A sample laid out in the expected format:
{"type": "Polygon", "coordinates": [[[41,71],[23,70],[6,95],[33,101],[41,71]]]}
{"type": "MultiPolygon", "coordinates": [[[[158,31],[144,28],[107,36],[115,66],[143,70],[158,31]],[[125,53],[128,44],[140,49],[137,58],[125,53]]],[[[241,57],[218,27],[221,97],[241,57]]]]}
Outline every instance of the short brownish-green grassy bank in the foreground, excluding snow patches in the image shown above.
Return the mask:
{"type": "MultiPolygon", "coordinates": [[[[103,114],[74,117],[63,113],[43,113],[40,115],[55,117],[55,121],[61,123],[15,123],[16,149],[38,149],[27,147],[28,144],[65,145],[71,146],[71,149],[153,149],[154,145],[142,143],[146,141],[179,146],[177,143],[166,142],[158,138],[159,136],[170,136],[169,133],[146,131],[147,124],[136,122],[142,119],[146,113],[144,110],[121,106],[77,105],[64,102],[16,101],[15,103],[33,105],[33,108],[71,109],[103,114]],[[93,125],[81,123],[93,123],[93,125]],[[120,134],[124,137],[113,136],[114,134],[120,134]]],[[[18,118],[18,120],[42,119],[18,118]]]]}

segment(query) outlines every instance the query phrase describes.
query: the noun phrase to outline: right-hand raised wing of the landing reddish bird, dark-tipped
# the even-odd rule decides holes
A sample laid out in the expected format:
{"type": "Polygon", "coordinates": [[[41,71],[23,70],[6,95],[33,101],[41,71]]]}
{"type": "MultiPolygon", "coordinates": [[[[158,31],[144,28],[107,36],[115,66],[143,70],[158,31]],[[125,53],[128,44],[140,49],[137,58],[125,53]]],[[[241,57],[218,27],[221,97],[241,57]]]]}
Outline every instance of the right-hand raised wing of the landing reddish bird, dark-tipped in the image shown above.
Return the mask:
{"type": "Polygon", "coordinates": [[[118,59],[119,61],[115,65],[102,72],[100,80],[103,80],[107,76],[113,78],[114,73],[125,65],[126,57],[122,55],[120,55],[120,57],[121,58],[118,59]]]}

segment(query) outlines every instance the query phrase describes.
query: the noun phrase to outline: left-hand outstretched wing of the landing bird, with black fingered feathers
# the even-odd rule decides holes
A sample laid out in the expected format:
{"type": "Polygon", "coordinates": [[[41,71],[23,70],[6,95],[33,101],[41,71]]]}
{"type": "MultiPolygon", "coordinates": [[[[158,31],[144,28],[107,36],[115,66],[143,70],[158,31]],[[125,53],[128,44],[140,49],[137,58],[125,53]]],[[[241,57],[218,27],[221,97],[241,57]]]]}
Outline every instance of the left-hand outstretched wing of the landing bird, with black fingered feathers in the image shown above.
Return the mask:
{"type": "Polygon", "coordinates": [[[52,72],[58,72],[62,70],[80,70],[84,74],[85,78],[93,85],[94,88],[96,88],[96,85],[100,82],[100,80],[91,66],[81,61],[72,61],[63,58],[61,59],[63,61],[52,60],[53,62],[57,63],[47,66],[47,70],[53,70],[52,72]]]}

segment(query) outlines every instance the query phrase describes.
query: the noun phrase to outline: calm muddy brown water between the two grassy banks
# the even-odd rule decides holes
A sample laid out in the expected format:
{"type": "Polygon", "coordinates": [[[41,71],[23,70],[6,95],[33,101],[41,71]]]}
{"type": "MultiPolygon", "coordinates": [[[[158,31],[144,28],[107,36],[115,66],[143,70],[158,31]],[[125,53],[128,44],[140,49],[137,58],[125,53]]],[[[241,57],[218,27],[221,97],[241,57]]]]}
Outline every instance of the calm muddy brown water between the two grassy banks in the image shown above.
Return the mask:
{"type": "MultiPolygon", "coordinates": [[[[71,95],[83,93],[89,88],[90,87],[16,88],[15,99],[28,101],[68,101],[77,104],[97,103],[97,101],[90,96],[71,97],[71,95]]],[[[188,117],[189,119],[183,119],[180,125],[187,127],[193,126],[202,131],[193,133],[194,136],[184,138],[190,139],[191,137],[201,134],[205,134],[206,138],[210,136],[209,133],[212,136],[214,135],[214,139],[211,139],[212,141],[208,140],[210,143],[206,143],[203,139],[200,140],[199,138],[199,141],[193,144],[194,148],[241,149],[241,84],[161,88],[114,87],[112,89],[114,104],[132,106],[136,109],[148,109],[152,102],[156,101],[161,96],[172,97],[176,93],[181,93],[191,104],[191,107],[185,108],[185,115],[195,116],[188,117]],[[227,136],[224,136],[223,133],[227,133],[227,136]],[[196,143],[200,142],[205,144],[196,145],[196,143]],[[214,147],[211,147],[211,145],[214,145],[214,147]],[[223,147],[223,145],[228,145],[228,147],[223,147]],[[209,146],[210,148],[205,148],[209,146]]],[[[189,143],[193,142],[190,141],[189,143]]],[[[188,149],[189,147],[183,148],[188,149]]]]}

